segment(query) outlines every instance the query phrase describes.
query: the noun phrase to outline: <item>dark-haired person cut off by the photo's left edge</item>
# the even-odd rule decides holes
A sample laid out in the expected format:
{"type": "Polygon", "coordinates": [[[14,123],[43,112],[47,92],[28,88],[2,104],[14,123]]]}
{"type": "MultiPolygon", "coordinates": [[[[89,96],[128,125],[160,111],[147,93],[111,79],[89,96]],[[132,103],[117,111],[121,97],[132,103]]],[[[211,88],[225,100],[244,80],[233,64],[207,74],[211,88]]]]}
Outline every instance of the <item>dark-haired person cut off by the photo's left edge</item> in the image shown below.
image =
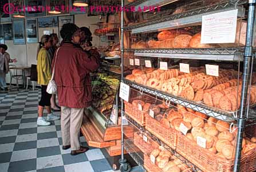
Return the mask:
{"type": "Polygon", "coordinates": [[[9,72],[9,63],[17,62],[17,59],[10,59],[7,49],[6,44],[0,44],[0,88],[5,91],[8,91],[5,77],[9,72]]]}

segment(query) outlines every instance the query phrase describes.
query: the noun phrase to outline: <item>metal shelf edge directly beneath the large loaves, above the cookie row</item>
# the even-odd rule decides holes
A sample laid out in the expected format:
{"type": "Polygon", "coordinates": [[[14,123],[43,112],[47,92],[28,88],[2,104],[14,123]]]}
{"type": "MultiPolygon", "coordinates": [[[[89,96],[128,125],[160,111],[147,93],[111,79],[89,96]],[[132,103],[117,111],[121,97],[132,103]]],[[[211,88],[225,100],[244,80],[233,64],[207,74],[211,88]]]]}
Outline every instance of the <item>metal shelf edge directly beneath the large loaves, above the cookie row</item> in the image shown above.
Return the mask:
{"type": "MultiPolygon", "coordinates": [[[[132,50],[130,50],[132,51],[132,50]]],[[[198,59],[242,61],[242,48],[166,48],[166,49],[137,49],[135,56],[161,57],[172,59],[198,59]]]]}

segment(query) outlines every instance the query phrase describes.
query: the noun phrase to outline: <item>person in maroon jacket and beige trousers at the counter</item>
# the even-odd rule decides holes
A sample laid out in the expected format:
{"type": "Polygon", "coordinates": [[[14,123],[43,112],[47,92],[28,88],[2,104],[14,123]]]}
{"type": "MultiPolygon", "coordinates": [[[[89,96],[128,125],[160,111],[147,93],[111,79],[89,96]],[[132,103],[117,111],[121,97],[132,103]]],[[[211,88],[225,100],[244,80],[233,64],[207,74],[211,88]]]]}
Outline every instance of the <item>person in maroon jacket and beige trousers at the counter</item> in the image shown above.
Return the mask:
{"type": "Polygon", "coordinates": [[[84,108],[92,101],[89,73],[99,67],[100,55],[94,49],[82,50],[80,29],[76,24],[64,24],[60,34],[63,42],[54,55],[53,65],[56,61],[54,80],[61,106],[62,149],[71,147],[71,155],[77,155],[89,149],[80,146],[78,133],[84,108]]]}

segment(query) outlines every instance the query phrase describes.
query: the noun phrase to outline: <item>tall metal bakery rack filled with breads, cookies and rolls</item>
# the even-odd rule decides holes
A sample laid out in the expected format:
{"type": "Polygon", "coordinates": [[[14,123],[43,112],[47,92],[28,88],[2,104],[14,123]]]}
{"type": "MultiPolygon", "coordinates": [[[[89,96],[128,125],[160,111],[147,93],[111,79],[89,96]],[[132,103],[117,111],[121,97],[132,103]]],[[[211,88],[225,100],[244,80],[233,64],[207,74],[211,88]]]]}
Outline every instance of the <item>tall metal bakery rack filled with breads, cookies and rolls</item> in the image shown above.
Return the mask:
{"type": "Polygon", "coordinates": [[[123,149],[144,171],[255,171],[255,2],[128,6],[162,2],[160,13],[121,23],[121,60],[135,67],[124,75],[122,65],[122,126],[137,129],[123,132],[123,149]]]}

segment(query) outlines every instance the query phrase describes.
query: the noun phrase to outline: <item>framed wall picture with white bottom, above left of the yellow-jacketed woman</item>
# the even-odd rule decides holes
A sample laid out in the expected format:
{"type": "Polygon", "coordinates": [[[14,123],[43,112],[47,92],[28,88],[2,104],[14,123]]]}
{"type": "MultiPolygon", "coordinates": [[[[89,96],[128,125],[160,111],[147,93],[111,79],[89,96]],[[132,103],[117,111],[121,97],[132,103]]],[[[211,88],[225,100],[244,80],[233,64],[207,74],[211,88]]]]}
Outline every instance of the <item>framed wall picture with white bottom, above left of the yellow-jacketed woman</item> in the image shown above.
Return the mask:
{"type": "Polygon", "coordinates": [[[26,19],[27,43],[37,43],[37,19],[26,19]]]}

